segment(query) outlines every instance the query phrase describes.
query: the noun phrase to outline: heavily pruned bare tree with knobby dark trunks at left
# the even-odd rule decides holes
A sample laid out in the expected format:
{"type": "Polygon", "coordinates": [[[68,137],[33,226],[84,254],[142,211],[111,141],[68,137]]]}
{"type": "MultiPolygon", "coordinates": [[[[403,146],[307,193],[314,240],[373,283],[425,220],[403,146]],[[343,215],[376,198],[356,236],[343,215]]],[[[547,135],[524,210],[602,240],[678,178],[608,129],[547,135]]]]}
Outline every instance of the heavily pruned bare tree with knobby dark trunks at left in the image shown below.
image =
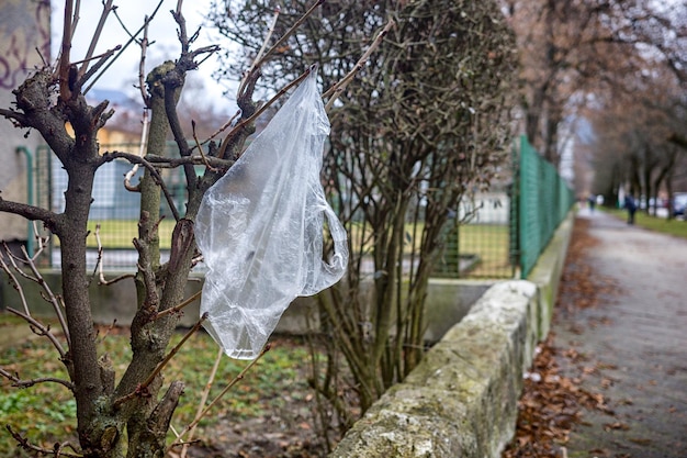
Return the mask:
{"type": "MultiPolygon", "coordinates": [[[[162,457],[168,451],[167,432],[171,416],[183,392],[183,382],[165,382],[164,369],[178,350],[169,348],[170,337],[179,322],[180,311],[195,298],[184,299],[189,272],[198,260],[193,221],[204,192],[228,170],[240,155],[244,142],[255,130],[254,120],[260,110],[252,101],[259,65],[248,72],[237,94],[241,109],[233,126],[227,123],[222,142],[189,142],[198,138],[195,132],[184,132],[177,102],[184,87],[187,74],[217,51],[216,46],[194,48],[198,33],[190,34],[181,12],[181,1],[171,11],[177,25],[180,54],[174,62],[155,67],[144,81],[142,58],[140,91],[150,112],[145,157],[109,150],[100,150],[97,134],[113,114],[106,100],[89,105],[86,88],[106,68],[119,48],[100,56],[93,55],[101,27],[92,37],[89,52],[78,62],[71,56],[71,40],[77,26],[79,2],[65,2],[65,25],[61,49],[57,64],[37,69],[14,90],[15,107],[1,109],[0,114],[22,130],[34,130],[44,138],[68,175],[65,191],[65,210],[56,213],[49,209],[0,199],[0,211],[37,221],[59,238],[61,249],[61,291],[50,291],[35,268],[34,258],[8,254],[2,267],[19,290],[18,301],[22,308],[10,309],[38,333],[53,343],[59,359],[69,375],[68,380],[55,378],[22,380],[0,369],[0,375],[16,387],[35,383],[60,383],[69,389],[77,403],[77,432],[79,445],[57,444],[42,448],[18,432],[11,434],[20,447],[35,454],[79,457],[162,457]],[[71,135],[66,129],[69,123],[71,135]],[[179,155],[165,156],[165,142],[171,132],[179,155]],[[99,349],[88,286],[97,280],[87,271],[86,241],[89,235],[87,222],[92,202],[95,171],[108,163],[123,158],[145,168],[140,183],[131,190],[140,193],[140,219],[138,236],[134,239],[138,252],[137,271],[133,276],[137,291],[136,314],[131,323],[132,359],[115,383],[115,371],[106,354],[99,349]],[[196,176],[195,166],[205,166],[196,176]],[[185,209],[178,208],[169,197],[160,176],[162,167],[181,167],[185,177],[188,200],[185,209]],[[171,237],[171,253],[167,262],[160,260],[160,199],[166,199],[176,220],[171,237]],[[27,272],[27,273],[26,273],[27,272]],[[44,288],[45,297],[54,305],[59,319],[61,335],[54,333],[32,316],[16,276],[23,275],[44,288]]],[[[158,4],[159,8],[159,4],[158,4]]],[[[101,25],[113,12],[112,1],[103,3],[101,25]]],[[[157,10],[156,10],[157,11],[157,10]]],[[[139,30],[136,40],[145,52],[147,24],[139,30]],[[143,33],[143,35],[140,35],[143,33]]],[[[290,32],[285,32],[290,33],[290,32]]],[[[144,54],[145,56],[145,54],[144,54]]],[[[266,54],[269,56],[269,53],[266,54]]],[[[263,109],[267,105],[263,105],[263,109]]],[[[144,129],[144,132],[146,130],[144,129]]],[[[215,133],[218,137],[221,133],[215,133]]],[[[191,329],[200,328],[201,321],[191,329]]],[[[182,339],[182,343],[185,340],[182,339]]],[[[180,344],[181,345],[181,344],[180,344]]],[[[193,426],[189,425],[187,429],[193,426]]],[[[176,442],[180,445],[181,438],[176,442]]]]}

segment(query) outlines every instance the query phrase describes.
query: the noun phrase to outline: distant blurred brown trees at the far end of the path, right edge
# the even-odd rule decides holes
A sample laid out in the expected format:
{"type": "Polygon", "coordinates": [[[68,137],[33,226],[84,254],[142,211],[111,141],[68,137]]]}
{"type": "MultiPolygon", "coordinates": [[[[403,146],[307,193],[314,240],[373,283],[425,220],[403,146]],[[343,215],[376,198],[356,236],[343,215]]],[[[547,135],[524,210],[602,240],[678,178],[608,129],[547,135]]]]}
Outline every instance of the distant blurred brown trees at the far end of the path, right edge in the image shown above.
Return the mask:
{"type": "Polygon", "coordinates": [[[596,109],[585,111],[596,131],[594,190],[609,203],[618,201],[621,189],[655,201],[687,176],[687,155],[673,141],[686,132],[684,93],[672,72],[657,69],[635,80],[630,93],[598,100],[596,109]]]}

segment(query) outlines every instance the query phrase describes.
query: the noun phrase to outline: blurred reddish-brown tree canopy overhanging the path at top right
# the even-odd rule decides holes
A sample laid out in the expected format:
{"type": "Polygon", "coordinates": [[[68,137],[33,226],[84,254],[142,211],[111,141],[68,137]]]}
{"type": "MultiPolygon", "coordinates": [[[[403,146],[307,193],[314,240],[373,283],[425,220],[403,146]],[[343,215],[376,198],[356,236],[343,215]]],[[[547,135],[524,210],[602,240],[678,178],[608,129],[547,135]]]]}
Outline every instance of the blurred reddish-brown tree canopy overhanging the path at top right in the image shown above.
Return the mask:
{"type": "Polygon", "coordinates": [[[518,35],[523,130],[548,160],[560,164],[560,131],[570,127],[589,94],[632,90],[646,57],[662,56],[685,80],[687,11],[680,2],[651,5],[618,0],[506,0],[518,35]]]}

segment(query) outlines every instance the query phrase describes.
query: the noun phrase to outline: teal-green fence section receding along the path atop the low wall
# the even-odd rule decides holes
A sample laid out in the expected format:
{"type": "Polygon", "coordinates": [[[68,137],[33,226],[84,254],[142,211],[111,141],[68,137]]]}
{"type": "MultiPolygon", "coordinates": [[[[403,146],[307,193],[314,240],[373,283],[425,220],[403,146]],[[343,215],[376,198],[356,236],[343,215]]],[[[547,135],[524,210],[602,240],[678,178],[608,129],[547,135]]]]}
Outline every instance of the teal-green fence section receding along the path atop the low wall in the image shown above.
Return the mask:
{"type": "Polygon", "coordinates": [[[575,203],[575,196],[555,167],[534,150],[525,135],[520,137],[517,181],[515,255],[520,275],[526,278],[575,203]]]}

